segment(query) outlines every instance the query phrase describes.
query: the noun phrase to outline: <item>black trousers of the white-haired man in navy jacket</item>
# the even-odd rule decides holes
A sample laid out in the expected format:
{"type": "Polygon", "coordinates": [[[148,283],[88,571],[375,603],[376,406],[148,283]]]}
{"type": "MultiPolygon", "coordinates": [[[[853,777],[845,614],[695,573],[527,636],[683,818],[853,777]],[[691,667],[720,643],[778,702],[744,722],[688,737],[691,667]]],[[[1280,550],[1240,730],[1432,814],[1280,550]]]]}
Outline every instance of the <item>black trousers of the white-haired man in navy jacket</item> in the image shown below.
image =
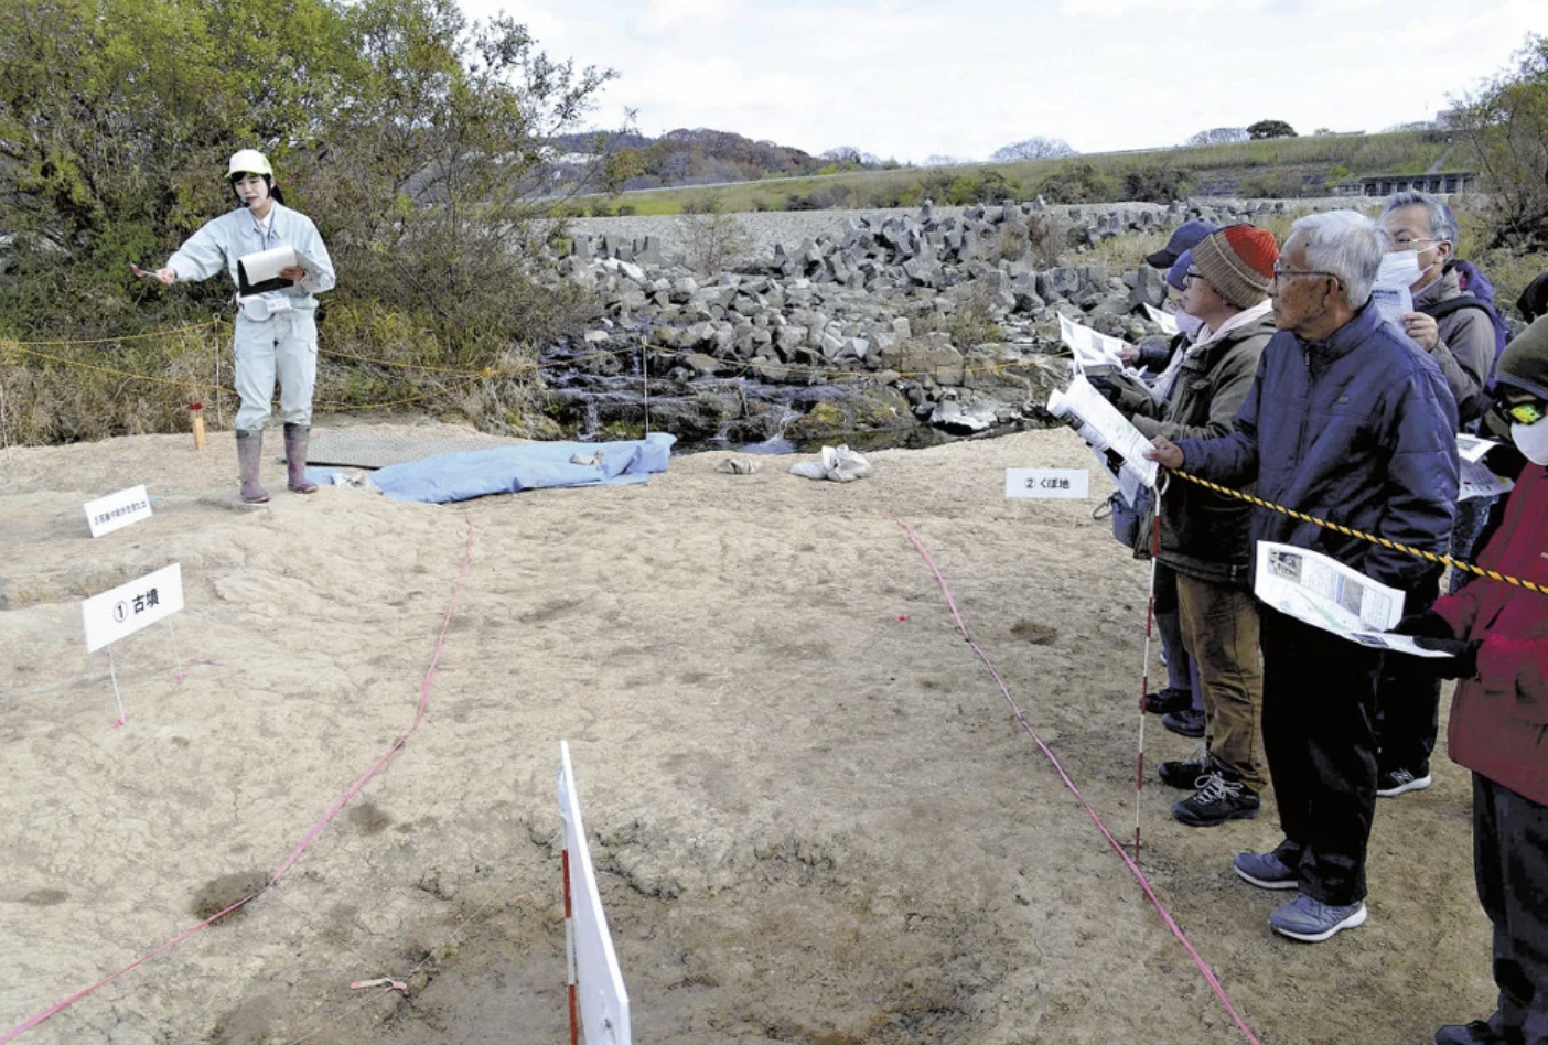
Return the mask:
{"type": "Polygon", "coordinates": [[[1285,841],[1276,855],[1300,892],[1325,904],[1365,898],[1376,811],[1376,681],[1381,650],[1260,605],[1263,752],[1285,841]]]}

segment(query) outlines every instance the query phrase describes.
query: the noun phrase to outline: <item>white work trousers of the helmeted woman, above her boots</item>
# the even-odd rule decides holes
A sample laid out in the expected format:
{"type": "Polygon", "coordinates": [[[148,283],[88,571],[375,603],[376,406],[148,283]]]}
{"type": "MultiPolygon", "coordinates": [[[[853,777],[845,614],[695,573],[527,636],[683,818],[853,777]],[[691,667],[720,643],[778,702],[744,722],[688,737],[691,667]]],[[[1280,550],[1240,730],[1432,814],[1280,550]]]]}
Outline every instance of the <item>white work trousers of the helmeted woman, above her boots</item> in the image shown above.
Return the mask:
{"type": "Polygon", "coordinates": [[[286,424],[311,424],[311,392],[317,384],[317,317],[294,310],[254,322],[237,313],[237,427],[262,432],[280,379],[280,415],[286,424]]]}

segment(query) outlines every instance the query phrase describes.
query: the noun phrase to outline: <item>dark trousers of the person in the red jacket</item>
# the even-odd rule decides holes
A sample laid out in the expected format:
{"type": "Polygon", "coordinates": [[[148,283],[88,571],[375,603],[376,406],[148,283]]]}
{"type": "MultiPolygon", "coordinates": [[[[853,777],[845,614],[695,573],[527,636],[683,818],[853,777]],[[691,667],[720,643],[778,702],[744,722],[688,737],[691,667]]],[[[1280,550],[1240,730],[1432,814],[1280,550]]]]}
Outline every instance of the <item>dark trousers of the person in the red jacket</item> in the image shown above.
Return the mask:
{"type": "Polygon", "coordinates": [[[1472,774],[1472,869],[1494,923],[1489,1026],[1511,1045],[1548,1045],[1548,808],[1472,774]]]}

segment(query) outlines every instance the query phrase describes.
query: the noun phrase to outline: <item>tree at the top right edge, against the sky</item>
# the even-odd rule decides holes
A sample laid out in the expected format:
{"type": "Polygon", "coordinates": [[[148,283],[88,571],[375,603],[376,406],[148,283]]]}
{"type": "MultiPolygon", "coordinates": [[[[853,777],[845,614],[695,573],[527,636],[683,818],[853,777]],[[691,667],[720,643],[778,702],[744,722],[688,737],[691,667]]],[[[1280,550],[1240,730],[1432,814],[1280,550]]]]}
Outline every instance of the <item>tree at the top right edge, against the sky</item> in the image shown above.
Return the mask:
{"type": "Polygon", "coordinates": [[[1461,99],[1455,124],[1489,194],[1491,246],[1548,246],[1548,37],[1528,36],[1512,68],[1461,99]]]}

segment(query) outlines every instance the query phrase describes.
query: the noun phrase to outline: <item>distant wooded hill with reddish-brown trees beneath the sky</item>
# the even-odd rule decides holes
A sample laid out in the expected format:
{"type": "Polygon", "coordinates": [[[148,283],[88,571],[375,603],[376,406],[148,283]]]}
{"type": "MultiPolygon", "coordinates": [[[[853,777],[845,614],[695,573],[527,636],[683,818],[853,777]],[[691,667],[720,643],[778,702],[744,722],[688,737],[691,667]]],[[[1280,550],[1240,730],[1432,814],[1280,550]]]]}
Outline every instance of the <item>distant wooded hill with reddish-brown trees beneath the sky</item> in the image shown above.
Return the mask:
{"type": "Polygon", "coordinates": [[[579,178],[584,170],[579,158],[594,155],[599,138],[607,153],[607,184],[598,187],[611,192],[814,175],[827,164],[800,149],[698,127],[670,130],[661,138],[598,132],[563,135],[553,144],[574,159],[568,166],[560,163],[559,170],[579,178]]]}

